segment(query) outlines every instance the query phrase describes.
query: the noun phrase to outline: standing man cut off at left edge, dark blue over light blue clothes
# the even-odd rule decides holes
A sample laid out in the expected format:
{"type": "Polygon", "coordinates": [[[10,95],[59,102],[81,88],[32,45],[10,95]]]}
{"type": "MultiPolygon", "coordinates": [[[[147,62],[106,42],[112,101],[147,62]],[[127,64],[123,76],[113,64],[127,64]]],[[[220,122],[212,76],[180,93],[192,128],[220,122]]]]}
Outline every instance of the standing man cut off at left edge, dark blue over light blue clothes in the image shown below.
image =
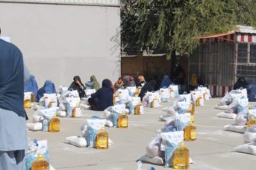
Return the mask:
{"type": "Polygon", "coordinates": [[[2,170],[25,169],[24,157],[28,145],[26,111],[23,105],[26,79],[29,79],[29,72],[24,66],[21,51],[12,43],[0,39],[0,169],[2,170]]]}

